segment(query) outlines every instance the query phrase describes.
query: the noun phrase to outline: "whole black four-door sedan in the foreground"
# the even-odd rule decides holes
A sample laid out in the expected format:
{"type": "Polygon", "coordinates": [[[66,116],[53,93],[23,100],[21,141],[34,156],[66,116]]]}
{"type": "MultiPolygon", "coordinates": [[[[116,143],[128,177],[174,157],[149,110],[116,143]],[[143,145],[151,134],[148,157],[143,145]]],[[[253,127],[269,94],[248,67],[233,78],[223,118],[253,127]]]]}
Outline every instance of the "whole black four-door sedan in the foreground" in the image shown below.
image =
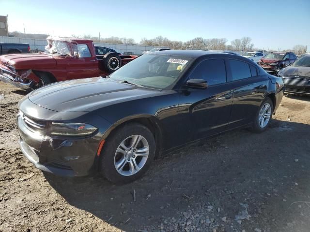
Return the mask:
{"type": "Polygon", "coordinates": [[[241,56],[153,52],[107,77],[31,92],[18,104],[20,147],[43,171],[99,171],[126,183],[161,152],[235,128],[266,130],[283,86],[281,78],[241,56]]]}

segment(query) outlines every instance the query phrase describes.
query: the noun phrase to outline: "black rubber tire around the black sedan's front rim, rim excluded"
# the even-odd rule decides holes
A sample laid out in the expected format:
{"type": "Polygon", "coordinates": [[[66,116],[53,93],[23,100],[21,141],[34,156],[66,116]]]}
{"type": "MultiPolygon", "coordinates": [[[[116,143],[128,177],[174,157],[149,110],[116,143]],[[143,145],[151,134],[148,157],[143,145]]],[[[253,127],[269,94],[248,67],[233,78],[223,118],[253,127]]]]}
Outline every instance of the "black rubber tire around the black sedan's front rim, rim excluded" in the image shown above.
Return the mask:
{"type": "MultiPolygon", "coordinates": [[[[140,176],[143,175],[149,169],[152,161],[154,160],[154,156],[155,156],[155,139],[153,133],[147,127],[139,123],[125,124],[124,126],[116,129],[115,131],[112,131],[112,133],[106,140],[104,148],[100,154],[99,172],[106,179],[115,184],[129,183],[140,178],[140,176]],[[121,143],[126,138],[132,135],[141,135],[146,139],[149,146],[149,154],[144,166],[142,166],[140,171],[138,171],[136,174],[125,176],[120,174],[116,170],[114,161],[116,160],[116,150],[118,149],[119,145],[121,145],[121,143]]],[[[136,158],[138,159],[138,156],[136,158]]],[[[124,157],[122,159],[127,158],[124,157]]],[[[128,165],[130,165],[129,162],[128,165]]]]}

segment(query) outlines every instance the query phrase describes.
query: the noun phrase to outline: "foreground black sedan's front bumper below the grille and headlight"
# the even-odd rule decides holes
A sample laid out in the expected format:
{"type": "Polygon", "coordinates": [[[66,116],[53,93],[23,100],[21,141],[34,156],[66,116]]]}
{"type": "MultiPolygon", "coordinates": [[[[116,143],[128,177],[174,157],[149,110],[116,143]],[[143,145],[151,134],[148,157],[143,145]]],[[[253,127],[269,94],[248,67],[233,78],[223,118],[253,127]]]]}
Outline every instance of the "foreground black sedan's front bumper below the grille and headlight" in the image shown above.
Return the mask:
{"type": "Polygon", "coordinates": [[[84,176],[93,170],[99,141],[88,138],[51,138],[40,135],[17,116],[19,145],[25,157],[38,169],[62,176],[84,176]]]}

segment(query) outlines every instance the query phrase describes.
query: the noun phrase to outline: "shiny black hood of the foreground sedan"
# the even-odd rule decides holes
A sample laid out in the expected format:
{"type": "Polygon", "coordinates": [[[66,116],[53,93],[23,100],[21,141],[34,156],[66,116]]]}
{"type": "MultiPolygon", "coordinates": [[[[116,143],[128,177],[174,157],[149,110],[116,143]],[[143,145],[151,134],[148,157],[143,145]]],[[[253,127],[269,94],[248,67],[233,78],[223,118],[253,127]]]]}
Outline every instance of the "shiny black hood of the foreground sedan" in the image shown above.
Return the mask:
{"type": "Polygon", "coordinates": [[[161,90],[93,77],[47,85],[33,91],[29,100],[58,112],[90,112],[111,104],[152,97],[160,93],[161,90]]]}

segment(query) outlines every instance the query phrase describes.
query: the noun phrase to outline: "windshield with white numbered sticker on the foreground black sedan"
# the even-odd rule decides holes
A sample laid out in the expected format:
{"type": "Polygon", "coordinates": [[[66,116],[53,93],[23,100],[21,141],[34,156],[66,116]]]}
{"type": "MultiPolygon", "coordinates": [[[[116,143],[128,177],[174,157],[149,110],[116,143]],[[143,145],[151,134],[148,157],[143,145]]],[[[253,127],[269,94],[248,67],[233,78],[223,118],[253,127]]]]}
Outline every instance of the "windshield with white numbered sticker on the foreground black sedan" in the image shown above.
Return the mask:
{"type": "Polygon", "coordinates": [[[189,67],[192,58],[146,54],[130,61],[109,77],[155,89],[171,89],[189,67]]]}

